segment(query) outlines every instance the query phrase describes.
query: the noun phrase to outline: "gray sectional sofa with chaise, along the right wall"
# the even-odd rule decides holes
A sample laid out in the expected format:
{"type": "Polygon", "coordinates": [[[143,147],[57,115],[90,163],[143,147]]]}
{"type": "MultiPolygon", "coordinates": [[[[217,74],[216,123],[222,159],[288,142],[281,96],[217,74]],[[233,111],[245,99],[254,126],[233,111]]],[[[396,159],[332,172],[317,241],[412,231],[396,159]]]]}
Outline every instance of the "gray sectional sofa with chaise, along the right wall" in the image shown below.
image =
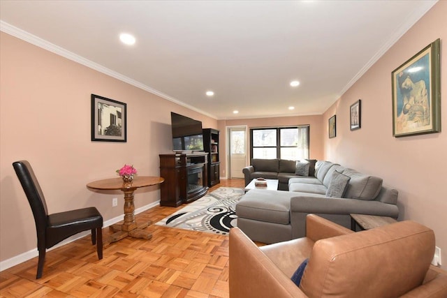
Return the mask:
{"type": "Polygon", "coordinates": [[[317,161],[313,176],[288,179],[288,191],[248,191],[236,204],[237,226],[252,240],[271,244],[304,237],[307,214],[346,228],[351,226],[349,214],[397,218],[397,190],[382,182],[330,161],[317,161]]]}

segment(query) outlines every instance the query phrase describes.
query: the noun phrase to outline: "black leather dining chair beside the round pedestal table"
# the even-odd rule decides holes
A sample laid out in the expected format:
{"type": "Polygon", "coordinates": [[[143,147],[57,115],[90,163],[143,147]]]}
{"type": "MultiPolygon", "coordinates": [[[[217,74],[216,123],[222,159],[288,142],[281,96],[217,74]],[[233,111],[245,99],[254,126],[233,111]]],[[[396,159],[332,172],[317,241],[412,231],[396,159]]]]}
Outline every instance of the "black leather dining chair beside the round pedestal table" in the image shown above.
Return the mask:
{"type": "Polygon", "coordinates": [[[103,216],[95,207],[48,214],[41,186],[28,161],[16,161],[13,167],[27,195],[36,222],[39,260],[36,279],[42,277],[46,249],[68,237],[91,230],[91,244],[96,244],[98,259],[103,258],[103,216]]]}

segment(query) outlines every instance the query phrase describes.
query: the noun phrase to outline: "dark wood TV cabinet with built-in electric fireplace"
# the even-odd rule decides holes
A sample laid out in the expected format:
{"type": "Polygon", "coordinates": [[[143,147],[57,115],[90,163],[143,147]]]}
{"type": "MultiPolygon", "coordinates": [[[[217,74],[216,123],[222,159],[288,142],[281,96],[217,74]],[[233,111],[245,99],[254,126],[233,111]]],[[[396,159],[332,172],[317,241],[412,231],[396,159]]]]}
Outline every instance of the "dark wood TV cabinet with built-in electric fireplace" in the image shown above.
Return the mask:
{"type": "Polygon", "coordinates": [[[207,153],[160,154],[161,206],[178,207],[202,198],[208,191],[207,153]]]}

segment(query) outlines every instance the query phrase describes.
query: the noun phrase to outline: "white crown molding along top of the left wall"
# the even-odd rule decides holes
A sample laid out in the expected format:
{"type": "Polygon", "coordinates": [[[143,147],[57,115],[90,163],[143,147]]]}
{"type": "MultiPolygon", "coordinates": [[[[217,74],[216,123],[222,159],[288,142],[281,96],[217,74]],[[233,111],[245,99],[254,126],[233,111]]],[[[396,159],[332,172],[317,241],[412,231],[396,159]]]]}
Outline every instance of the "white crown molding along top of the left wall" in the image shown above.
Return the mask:
{"type": "Polygon", "coordinates": [[[200,114],[205,114],[208,117],[211,117],[213,119],[217,119],[216,116],[209,114],[203,110],[199,110],[196,107],[193,107],[192,105],[188,105],[186,103],[183,103],[180,100],[177,100],[176,98],[173,98],[172,96],[168,96],[167,94],[164,94],[161,91],[158,91],[154,88],[151,88],[145,84],[142,84],[141,82],[138,82],[136,80],[131,79],[130,77],[126,77],[125,75],[122,75],[121,73],[117,73],[114,70],[111,70],[109,68],[106,68],[104,66],[101,66],[100,64],[95,63],[94,61],[90,61],[89,59],[85,59],[84,57],[79,56],[78,54],[75,54],[73,52],[70,52],[63,47],[59,47],[59,45],[54,45],[54,43],[50,43],[47,40],[44,40],[43,38],[40,38],[38,36],[35,36],[27,31],[24,31],[20,28],[14,27],[11,24],[8,24],[7,22],[0,21],[0,31],[3,31],[5,33],[8,33],[11,36],[15,36],[17,38],[20,38],[21,40],[26,41],[27,43],[31,43],[32,45],[36,45],[38,47],[43,48],[44,50],[47,50],[49,52],[52,52],[54,54],[57,54],[61,57],[64,57],[66,59],[69,59],[71,61],[75,61],[78,64],[82,64],[83,66],[87,66],[88,68],[94,69],[100,73],[103,73],[105,75],[108,75],[110,77],[114,77],[117,80],[120,80],[122,82],[125,82],[127,84],[131,84],[134,87],[137,87],[139,89],[142,89],[144,91],[147,91],[151,94],[154,94],[156,96],[159,96],[161,98],[164,98],[166,100],[169,100],[173,103],[176,103],[177,105],[182,105],[183,107],[187,107],[189,110],[193,110],[196,112],[199,112],[200,114]]]}

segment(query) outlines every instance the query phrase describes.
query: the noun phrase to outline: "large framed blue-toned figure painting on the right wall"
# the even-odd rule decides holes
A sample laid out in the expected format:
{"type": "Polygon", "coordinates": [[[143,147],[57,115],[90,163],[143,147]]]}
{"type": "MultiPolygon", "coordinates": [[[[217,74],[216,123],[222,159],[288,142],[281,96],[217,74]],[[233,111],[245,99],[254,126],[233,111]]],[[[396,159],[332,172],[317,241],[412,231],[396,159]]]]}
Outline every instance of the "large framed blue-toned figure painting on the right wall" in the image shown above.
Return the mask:
{"type": "Polygon", "coordinates": [[[441,131],[440,40],[393,70],[393,136],[441,131]]]}

